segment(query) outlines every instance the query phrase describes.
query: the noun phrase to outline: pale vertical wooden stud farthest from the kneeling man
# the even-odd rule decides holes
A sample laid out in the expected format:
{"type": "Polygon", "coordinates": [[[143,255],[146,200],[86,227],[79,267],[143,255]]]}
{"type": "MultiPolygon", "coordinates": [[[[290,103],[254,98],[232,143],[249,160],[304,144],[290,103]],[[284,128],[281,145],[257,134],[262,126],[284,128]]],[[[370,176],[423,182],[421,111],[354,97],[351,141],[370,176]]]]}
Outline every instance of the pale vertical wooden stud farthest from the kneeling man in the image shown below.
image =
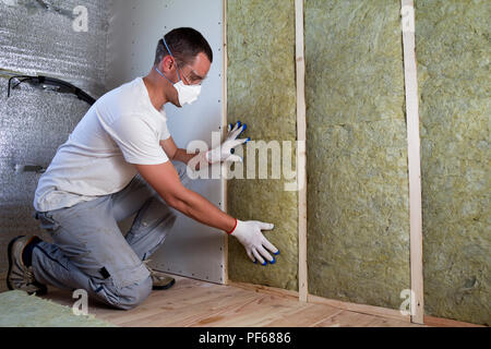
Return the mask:
{"type": "Polygon", "coordinates": [[[411,314],[414,323],[423,324],[421,155],[414,0],[402,0],[402,15],[409,167],[411,314]]]}

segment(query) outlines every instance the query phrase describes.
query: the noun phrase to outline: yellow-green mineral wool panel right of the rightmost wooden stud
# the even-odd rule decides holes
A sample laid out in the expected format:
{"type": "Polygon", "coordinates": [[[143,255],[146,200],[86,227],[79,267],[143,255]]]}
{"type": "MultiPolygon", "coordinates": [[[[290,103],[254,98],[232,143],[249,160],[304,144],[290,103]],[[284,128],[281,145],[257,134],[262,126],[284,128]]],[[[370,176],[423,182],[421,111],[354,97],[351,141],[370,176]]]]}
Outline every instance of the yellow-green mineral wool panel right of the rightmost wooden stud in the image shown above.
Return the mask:
{"type": "Polygon", "coordinates": [[[491,324],[491,2],[417,1],[424,305],[491,324]]]}

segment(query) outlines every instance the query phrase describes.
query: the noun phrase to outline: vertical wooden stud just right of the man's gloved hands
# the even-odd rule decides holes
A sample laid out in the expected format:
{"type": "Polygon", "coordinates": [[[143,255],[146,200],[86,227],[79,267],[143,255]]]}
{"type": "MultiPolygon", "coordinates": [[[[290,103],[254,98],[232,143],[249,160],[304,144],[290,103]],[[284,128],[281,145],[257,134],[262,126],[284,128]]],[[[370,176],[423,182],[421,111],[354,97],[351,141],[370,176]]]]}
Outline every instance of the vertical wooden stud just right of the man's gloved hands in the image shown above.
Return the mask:
{"type": "Polygon", "coordinates": [[[298,182],[298,284],[299,299],[307,302],[307,116],[306,60],[303,44],[303,0],[295,0],[295,33],[297,61],[297,182],[298,182]]]}

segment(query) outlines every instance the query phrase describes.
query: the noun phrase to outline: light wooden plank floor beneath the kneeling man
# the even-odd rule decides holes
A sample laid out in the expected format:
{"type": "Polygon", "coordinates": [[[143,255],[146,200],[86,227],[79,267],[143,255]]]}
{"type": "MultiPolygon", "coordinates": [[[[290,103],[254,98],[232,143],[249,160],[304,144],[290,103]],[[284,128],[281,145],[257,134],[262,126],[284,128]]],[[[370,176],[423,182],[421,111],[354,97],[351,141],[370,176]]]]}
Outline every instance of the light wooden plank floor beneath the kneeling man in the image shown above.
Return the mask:
{"type": "MultiPolygon", "coordinates": [[[[408,327],[407,322],[360,314],[325,304],[306,304],[284,296],[176,277],[131,310],[89,301],[89,314],[128,327],[408,327]]],[[[44,298],[71,306],[71,292],[50,289],[44,298]]]]}

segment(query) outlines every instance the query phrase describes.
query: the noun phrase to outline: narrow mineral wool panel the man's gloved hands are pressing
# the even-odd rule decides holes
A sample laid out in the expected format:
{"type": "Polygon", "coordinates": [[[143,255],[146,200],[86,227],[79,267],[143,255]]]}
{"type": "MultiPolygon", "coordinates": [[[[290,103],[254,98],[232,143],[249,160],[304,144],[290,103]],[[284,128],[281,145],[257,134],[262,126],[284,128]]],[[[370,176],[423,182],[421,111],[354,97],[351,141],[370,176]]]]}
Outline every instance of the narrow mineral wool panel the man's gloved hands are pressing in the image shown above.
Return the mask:
{"type": "MultiPolygon", "coordinates": [[[[230,0],[227,23],[229,122],[247,123],[249,130],[244,135],[253,141],[291,141],[295,154],[294,1],[230,0]]],[[[244,160],[246,174],[251,159],[246,156],[244,160]]],[[[295,159],[292,166],[295,169],[295,159]]],[[[280,250],[277,264],[255,266],[243,246],[230,239],[231,280],[298,289],[297,193],[285,191],[286,182],[283,177],[229,182],[229,213],[241,220],[275,224],[275,230],[265,236],[280,250]]]]}

